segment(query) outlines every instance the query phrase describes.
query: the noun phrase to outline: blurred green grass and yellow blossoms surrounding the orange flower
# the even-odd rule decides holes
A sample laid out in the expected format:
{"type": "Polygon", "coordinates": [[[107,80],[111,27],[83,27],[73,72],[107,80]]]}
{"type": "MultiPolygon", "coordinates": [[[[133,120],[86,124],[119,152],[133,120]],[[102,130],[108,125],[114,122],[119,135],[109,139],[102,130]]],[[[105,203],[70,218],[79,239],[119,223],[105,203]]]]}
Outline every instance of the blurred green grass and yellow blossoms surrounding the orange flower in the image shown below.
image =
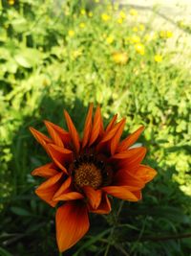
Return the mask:
{"type": "Polygon", "coordinates": [[[47,162],[29,127],[82,131],[90,102],[104,124],[140,125],[158,176],[64,255],[191,255],[189,1],[0,1],[0,256],[58,255],[54,209],[33,191],[47,162]]]}

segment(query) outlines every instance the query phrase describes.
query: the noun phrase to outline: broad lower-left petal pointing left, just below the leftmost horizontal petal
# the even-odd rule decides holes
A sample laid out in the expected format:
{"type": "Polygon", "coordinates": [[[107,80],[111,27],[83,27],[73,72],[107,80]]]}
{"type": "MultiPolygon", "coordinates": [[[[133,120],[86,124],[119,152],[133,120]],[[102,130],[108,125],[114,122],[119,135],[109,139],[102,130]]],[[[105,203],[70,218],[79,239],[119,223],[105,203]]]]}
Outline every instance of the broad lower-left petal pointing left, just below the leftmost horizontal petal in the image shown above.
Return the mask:
{"type": "Polygon", "coordinates": [[[62,175],[63,173],[58,173],[57,175],[50,177],[35,190],[35,193],[39,198],[45,200],[53,207],[57,203],[56,201],[53,201],[53,196],[60,187],[59,181],[62,175]]]}

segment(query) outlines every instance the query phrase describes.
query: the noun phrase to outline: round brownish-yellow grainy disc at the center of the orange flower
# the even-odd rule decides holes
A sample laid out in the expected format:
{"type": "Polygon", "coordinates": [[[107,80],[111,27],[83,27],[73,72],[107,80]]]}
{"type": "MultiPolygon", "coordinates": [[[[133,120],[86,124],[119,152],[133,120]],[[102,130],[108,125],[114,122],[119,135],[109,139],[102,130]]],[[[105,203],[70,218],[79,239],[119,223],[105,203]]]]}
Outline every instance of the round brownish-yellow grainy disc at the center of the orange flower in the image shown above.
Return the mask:
{"type": "Polygon", "coordinates": [[[91,186],[97,189],[103,181],[101,170],[94,163],[81,163],[74,169],[74,185],[76,188],[91,186]]]}

